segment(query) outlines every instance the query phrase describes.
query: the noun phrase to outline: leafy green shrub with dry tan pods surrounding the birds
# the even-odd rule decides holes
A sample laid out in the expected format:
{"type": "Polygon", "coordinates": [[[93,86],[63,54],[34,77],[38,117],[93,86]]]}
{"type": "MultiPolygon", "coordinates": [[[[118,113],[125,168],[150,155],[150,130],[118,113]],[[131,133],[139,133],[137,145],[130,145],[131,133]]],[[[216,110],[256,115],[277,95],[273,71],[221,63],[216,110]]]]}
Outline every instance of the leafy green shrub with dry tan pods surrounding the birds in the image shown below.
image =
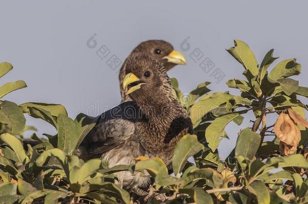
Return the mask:
{"type": "MultiPolygon", "coordinates": [[[[136,158],[135,165],[109,168],[100,159],[82,161],[74,156],[97,118],[79,114],[68,117],[59,104],[1,101],[0,124],[0,202],[3,203],[130,203],[130,193],[117,185],[114,173],[147,171],[153,178],[148,203],[306,203],[308,106],[298,99],[308,97],[308,88],[300,87],[291,76],[299,75],[295,59],[279,62],[268,72],[273,49],[260,66],[247,44],[235,40],[228,52],[244,67],[245,80],[232,79],[228,87],[240,91],[211,92],[209,82],[197,86],[188,95],[171,79],[174,94],[189,112],[194,135],[185,135],[177,144],[169,174],[160,158],[136,158]],[[251,127],[239,131],[236,146],[226,160],[217,148],[228,138],[226,125],[240,125],[247,112],[255,119],[251,127]],[[23,140],[24,114],[40,118],[57,129],[56,135],[30,145],[23,140]],[[269,114],[277,116],[268,124],[269,114]],[[25,146],[25,147],[24,147],[25,146]],[[194,162],[187,162],[193,157],[194,162]]],[[[10,63],[0,64],[0,77],[10,70],[10,63]]],[[[26,87],[23,81],[0,87],[0,98],[26,87]]]]}

